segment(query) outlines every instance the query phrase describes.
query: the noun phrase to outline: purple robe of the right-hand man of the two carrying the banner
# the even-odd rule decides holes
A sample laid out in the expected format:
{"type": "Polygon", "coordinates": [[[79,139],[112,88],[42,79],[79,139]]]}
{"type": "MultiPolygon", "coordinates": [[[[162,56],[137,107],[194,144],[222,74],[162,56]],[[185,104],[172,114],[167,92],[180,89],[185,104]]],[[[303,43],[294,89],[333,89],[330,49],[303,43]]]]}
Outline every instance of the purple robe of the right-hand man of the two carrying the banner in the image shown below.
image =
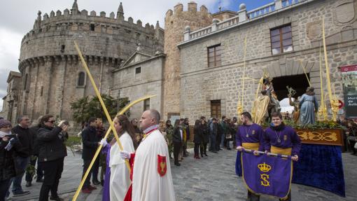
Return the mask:
{"type": "Polygon", "coordinates": [[[264,141],[265,151],[270,152],[270,147],[276,146],[279,148],[292,148],[291,155],[299,155],[301,139],[290,126],[284,125],[281,130],[273,130],[271,127],[268,127],[265,130],[264,141]]]}

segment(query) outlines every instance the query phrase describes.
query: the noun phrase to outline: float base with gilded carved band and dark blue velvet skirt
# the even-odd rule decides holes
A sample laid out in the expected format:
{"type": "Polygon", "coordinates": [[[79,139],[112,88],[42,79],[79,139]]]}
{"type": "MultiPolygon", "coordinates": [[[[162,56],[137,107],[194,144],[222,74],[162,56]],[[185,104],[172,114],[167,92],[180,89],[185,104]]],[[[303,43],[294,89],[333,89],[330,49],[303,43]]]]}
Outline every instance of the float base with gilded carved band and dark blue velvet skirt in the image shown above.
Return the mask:
{"type": "Polygon", "coordinates": [[[294,127],[302,140],[300,158],[293,165],[293,183],[314,186],[345,196],[342,146],[342,127],[334,121],[316,122],[302,127],[285,121],[294,127]]]}

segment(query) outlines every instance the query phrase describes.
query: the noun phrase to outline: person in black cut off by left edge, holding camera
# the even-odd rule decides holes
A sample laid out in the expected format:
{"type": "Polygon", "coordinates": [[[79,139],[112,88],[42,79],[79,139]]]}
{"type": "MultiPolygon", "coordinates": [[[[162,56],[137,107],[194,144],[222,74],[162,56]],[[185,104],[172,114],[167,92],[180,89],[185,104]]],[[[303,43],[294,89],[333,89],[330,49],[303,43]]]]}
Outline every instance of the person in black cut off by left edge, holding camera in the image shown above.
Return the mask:
{"type": "Polygon", "coordinates": [[[0,201],[8,196],[10,179],[20,174],[15,167],[15,151],[21,148],[15,134],[11,134],[11,123],[0,120],[0,201]]]}

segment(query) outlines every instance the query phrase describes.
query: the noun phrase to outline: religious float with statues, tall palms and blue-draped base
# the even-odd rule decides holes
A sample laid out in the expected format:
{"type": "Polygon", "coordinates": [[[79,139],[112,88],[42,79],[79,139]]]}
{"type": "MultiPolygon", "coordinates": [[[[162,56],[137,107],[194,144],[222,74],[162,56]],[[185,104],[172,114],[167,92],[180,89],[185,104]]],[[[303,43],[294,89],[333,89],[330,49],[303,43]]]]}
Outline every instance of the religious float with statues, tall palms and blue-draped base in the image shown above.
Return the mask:
{"type": "MultiPolygon", "coordinates": [[[[328,190],[332,193],[345,197],[344,171],[342,165],[342,146],[344,146],[344,135],[340,125],[337,124],[337,112],[339,110],[339,101],[335,95],[335,90],[330,83],[330,68],[328,65],[328,57],[325,46],[325,30],[324,20],[322,20],[323,27],[323,53],[325,62],[325,75],[323,76],[323,62],[322,51],[320,48],[320,83],[321,83],[321,101],[316,111],[317,106],[312,113],[312,119],[317,117],[317,122],[312,120],[312,124],[300,125],[297,123],[300,111],[299,102],[290,104],[295,107],[295,121],[289,122],[285,120],[284,123],[290,125],[295,129],[302,140],[302,147],[300,150],[299,160],[293,162],[293,183],[298,183],[307,186],[314,186],[323,190],[328,190]],[[325,83],[325,85],[323,85],[325,83]],[[325,103],[325,96],[323,95],[323,87],[327,88],[328,103],[325,103]],[[329,110],[327,109],[329,106],[329,110]],[[314,114],[315,113],[315,114],[314,114]]],[[[244,111],[244,81],[254,80],[253,78],[245,77],[245,54],[246,54],[246,40],[244,40],[244,71],[242,78],[241,92],[239,92],[239,101],[237,103],[237,114],[240,115],[244,111]]],[[[311,88],[309,77],[301,63],[301,67],[311,88]]],[[[255,80],[257,81],[257,80],[255,80]]],[[[276,95],[272,84],[272,78],[269,74],[264,72],[262,78],[258,82],[258,88],[255,92],[255,102],[251,111],[253,121],[268,127],[267,119],[273,111],[280,111],[279,101],[276,104],[276,95]],[[262,90],[262,95],[258,97],[258,93],[262,90]],[[269,97],[269,104],[266,98],[269,97]],[[265,98],[264,98],[265,97],[265,98]]],[[[289,91],[289,99],[293,97],[294,90],[286,86],[289,91]]],[[[308,90],[309,90],[308,88],[308,90]]],[[[313,92],[314,88],[312,88],[313,92]]],[[[239,161],[240,154],[237,154],[237,161],[239,161]]],[[[240,162],[236,163],[236,173],[241,176],[240,162]]]]}

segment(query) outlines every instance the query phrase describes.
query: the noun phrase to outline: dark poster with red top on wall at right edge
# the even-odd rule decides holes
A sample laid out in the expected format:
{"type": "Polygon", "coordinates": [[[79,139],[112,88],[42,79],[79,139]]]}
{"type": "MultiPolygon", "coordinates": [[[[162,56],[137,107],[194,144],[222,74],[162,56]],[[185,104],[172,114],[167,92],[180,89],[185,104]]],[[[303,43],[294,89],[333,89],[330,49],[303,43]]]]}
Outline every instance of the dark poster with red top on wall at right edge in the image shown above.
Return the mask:
{"type": "Polygon", "coordinates": [[[357,118],[357,65],[341,67],[346,118],[357,118]]]}

